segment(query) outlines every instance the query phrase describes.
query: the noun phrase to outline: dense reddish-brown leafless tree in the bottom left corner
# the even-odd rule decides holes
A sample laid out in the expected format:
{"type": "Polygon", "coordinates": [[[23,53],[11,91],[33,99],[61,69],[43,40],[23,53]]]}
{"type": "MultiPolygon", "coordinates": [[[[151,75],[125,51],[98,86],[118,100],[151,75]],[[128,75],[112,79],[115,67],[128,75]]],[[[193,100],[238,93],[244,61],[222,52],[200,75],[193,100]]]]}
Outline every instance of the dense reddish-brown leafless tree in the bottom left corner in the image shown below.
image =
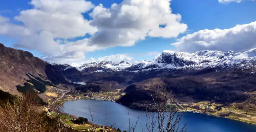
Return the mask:
{"type": "Polygon", "coordinates": [[[0,108],[1,128],[6,132],[45,131],[46,117],[37,102],[37,96],[32,93],[6,102],[0,108]]]}

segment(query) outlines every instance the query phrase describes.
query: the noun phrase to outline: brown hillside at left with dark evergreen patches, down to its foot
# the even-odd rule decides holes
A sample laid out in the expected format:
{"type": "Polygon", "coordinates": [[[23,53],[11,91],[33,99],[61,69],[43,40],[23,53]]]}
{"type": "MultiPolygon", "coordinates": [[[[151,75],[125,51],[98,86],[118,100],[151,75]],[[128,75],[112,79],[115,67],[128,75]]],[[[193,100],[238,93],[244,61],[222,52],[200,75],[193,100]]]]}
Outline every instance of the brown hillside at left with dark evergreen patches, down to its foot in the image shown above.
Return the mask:
{"type": "Polygon", "coordinates": [[[3,44],[0,44],[0,67],[0,89],[13,95],[37,91],[47,102],[60,96],[71,84],[51,64],[30,52],[7,48],[3,44]]]}

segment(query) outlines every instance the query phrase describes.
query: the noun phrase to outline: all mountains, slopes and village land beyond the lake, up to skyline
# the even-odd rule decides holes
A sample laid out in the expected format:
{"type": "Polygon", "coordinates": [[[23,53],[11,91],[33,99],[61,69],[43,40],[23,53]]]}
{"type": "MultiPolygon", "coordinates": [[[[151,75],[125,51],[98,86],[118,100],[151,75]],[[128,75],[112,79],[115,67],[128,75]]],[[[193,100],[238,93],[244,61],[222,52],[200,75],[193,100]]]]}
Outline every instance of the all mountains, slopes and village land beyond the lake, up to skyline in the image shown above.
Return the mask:
{"type": "MultiPolygon", "coordinates": [[[[106,100],[154,111],[152,95],[165,88],[179,111],[256,124],[256,54],[164,51],[157,59],[53,64],[0,44],[0,89],[36,93],[54,111],[71,100],[106,100]]],[[[88,117],[87,117],[88,118],[88,117]]],[[[79,126],[76,126],[79,128],[79,126]]]]}

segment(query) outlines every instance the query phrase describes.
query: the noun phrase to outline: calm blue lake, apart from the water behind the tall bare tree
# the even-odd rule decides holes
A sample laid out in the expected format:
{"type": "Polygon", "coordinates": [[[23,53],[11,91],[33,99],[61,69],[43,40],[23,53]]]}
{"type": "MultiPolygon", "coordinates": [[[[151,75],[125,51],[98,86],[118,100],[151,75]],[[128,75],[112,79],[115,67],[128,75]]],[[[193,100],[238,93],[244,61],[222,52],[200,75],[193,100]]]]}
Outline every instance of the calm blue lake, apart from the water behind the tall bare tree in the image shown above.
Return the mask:
{"type": "MultiPolygon", "coordinates": [[[[64,104],[66,113],[83,116],[91,120],[88,105],[92,111],[94,121],[100,125],[105,125],[105,105],[107,105],[108,125],[115,122],[117,128],[123,130],[129,129],[130,114],[131,123],[136,123],[139,117],[136,132],[141,132],[141,125],[145,128],[146,112],[128,108],[118,103],[100,100],[77,100],[68,101],[64,104]]],[[[187,124],[187,132],[256,132],[256,125],[238,122],[230,119],[209,116],[205,114],[196,114],[184,112],[181,120],[181,126],[187,124]]]]}

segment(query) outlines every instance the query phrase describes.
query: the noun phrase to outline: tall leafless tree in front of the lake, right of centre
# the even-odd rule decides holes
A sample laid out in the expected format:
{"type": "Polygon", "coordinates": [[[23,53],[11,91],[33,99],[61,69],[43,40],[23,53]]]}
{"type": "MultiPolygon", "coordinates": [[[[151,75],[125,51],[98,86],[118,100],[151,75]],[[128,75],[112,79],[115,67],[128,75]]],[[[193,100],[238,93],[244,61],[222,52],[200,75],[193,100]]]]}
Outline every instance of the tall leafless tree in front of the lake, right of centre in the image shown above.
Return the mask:
{"type": "Polygon", "coordinates": [[[186,124],[181,127],[182,115],[175,105],[175,98],[168,93],[166,86],[160,86],[151,94],[155,112],[147,112],[147,132],[186,132],[186,124]],[[169,98],[169,99],[168,99],[169,98]]]}

